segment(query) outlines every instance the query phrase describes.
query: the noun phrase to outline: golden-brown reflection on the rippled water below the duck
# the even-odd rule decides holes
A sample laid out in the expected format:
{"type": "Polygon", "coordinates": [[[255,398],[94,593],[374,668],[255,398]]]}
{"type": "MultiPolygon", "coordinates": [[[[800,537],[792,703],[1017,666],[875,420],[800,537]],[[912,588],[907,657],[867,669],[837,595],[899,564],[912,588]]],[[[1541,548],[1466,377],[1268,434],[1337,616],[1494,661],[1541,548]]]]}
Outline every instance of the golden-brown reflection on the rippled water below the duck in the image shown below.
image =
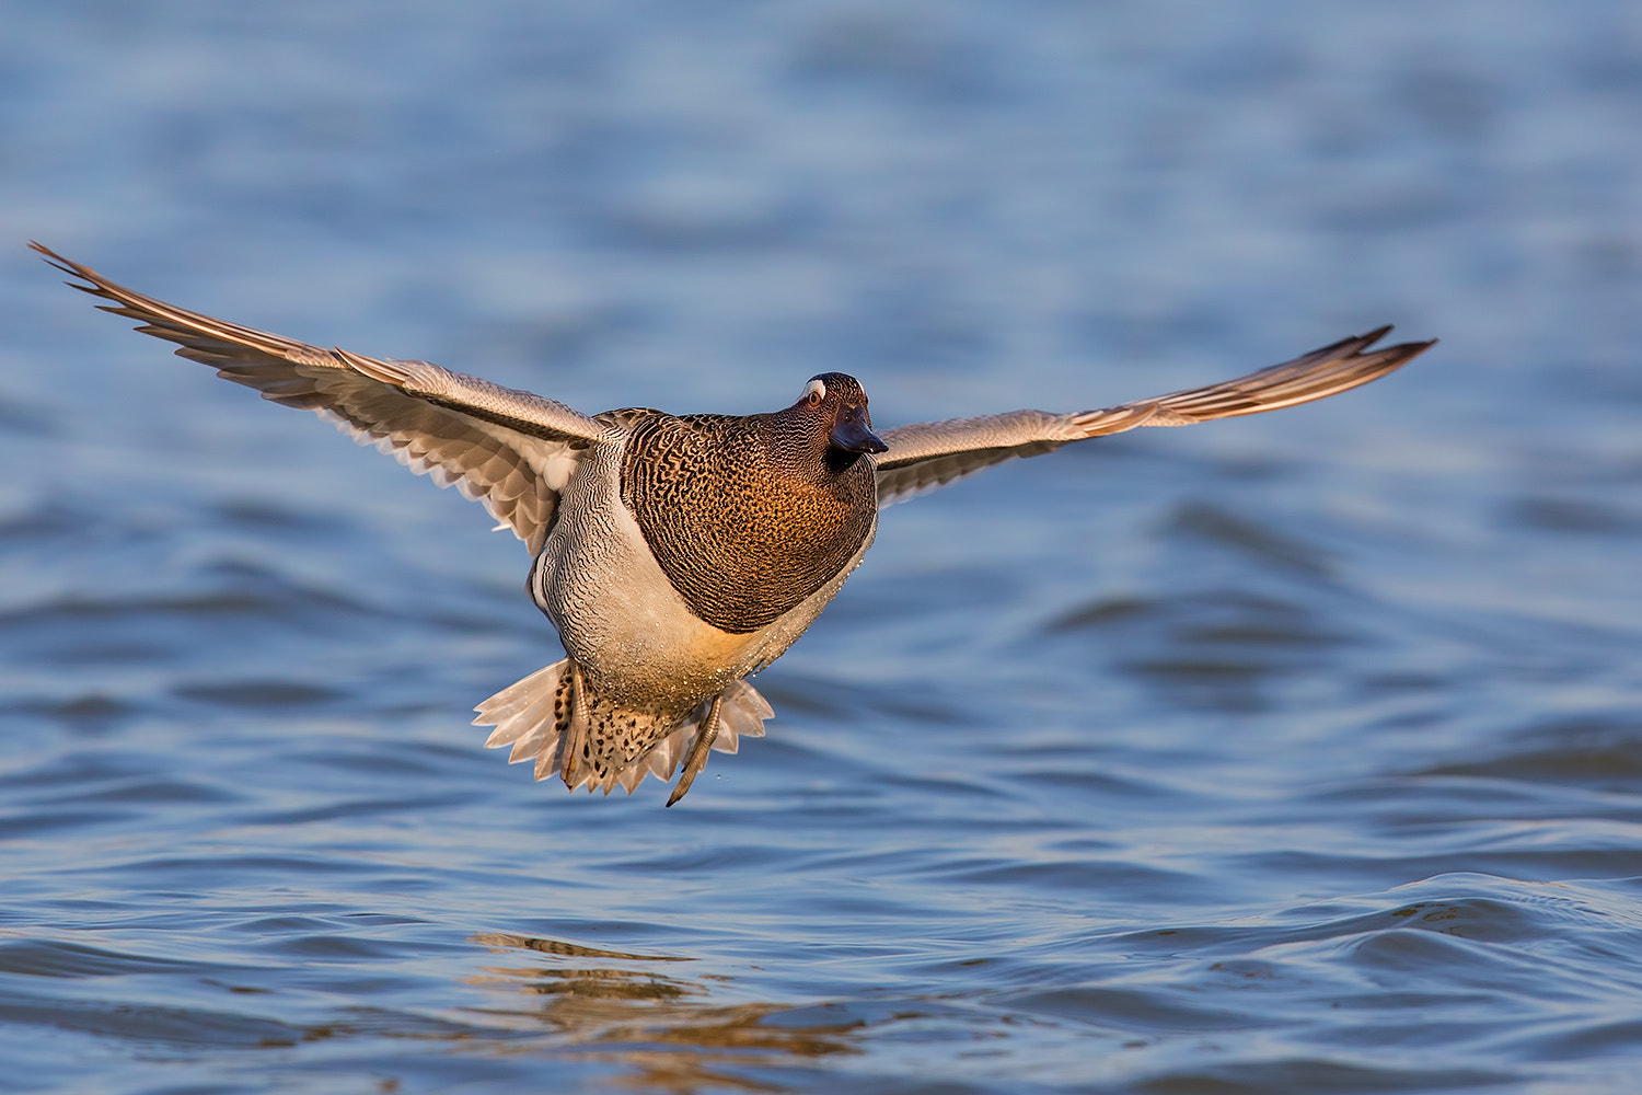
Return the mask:
{"type": "Polygon", "coordinates": [[[790,1067],[795,1061],[859,1052],[851,1031],[860,1021],[783,1026],[772,1015],[791,1005],[711,1001],[708,982],[727,978],[673,977],[660,964],[693,959],[598,951],[553,939],[479,932],[473,941],[496,951],[535,951],[553,964],[493,965],[466,978],[483,988],[516,990],[525,1001],[516,1008],[486,1008],[493,1019],[512,1019],[522,1036],[499,1042],[502,1049],[539,1051],[547,1038],[555,1054],[616,1062],[629,1069],[614,1082],[644,1090],[693,1092],[727,1087],[745,1092],[780,1092],[785,1085],[755,1080],[722,1069],[790,1067]]]}

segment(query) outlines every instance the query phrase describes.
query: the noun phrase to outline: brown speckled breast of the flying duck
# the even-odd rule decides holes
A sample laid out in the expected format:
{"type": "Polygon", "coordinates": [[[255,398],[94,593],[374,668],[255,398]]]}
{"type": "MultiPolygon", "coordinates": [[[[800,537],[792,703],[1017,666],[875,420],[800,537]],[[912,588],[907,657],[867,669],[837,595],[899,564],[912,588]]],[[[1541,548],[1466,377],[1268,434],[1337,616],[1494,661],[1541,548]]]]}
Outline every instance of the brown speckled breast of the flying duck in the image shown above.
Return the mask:
{"type": "Polygon", "coordinates": [[[732,634],[837,576],[877,512],[870,460],[778,466],[768,420],[652,414],[622,456],[622,502],[655,561],[696,616],[732,634]]]}

